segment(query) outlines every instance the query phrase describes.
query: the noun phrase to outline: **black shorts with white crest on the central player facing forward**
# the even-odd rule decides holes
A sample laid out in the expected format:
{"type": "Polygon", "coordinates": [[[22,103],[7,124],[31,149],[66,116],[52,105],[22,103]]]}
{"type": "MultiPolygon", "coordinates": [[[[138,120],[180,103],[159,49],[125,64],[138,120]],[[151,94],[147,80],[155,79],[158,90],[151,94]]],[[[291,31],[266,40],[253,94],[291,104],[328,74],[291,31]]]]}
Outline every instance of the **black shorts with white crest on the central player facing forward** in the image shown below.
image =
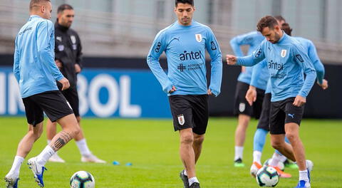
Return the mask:
{"type": "Polygon", "coordinates": [[[192,128],[197,135],[207,130],[208,95],[171,95],[170,108],[175,131],[192,128]]]}

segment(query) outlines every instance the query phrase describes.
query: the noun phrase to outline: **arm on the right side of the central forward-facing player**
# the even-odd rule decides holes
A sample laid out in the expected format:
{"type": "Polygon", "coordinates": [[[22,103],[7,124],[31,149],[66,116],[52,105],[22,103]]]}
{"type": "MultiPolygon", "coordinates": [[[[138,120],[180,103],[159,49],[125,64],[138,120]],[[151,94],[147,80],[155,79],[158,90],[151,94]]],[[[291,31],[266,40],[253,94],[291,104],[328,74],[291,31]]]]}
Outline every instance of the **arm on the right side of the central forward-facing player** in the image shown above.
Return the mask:
{"type": "Polygon", "coordinates": [[[210,28],[207,30],[205,48],[207,48],[210,58],[212,59],[212,73],[208,94],[218,96],[221,92],[222,83],[222,53],[221,49],[219,48],[219,43],[217,42],[217,39],[210,28]]]}

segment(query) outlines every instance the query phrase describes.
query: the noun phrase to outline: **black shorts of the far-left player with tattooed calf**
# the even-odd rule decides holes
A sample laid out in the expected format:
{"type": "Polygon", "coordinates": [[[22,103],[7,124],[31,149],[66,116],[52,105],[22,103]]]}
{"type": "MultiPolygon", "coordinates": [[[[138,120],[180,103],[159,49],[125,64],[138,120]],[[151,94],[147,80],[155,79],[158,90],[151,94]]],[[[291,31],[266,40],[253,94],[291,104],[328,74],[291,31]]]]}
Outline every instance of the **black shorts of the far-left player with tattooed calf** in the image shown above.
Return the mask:
{"type": "Polygon", "coordinates": [[[44,114],[52,122],[73,114],[71,106],[59,90],[52,90],[23,98],[27,122],[36,126],[44,120],[44,114]]]}

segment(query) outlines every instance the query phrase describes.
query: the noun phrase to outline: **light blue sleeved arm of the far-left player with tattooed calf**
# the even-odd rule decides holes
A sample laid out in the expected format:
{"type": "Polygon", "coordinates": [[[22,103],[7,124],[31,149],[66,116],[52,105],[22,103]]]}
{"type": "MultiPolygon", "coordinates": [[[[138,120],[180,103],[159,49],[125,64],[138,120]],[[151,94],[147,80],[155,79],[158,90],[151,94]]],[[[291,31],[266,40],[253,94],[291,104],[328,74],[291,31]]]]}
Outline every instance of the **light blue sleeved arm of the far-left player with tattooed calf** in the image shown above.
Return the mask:
{"type": "Polygon", "coordinates": [[[38,50],[38,58],[41,63],[44,63],[45,66],[50,71],[53,78],[56,80],[62,80],[64,76],[61,71],[56,66],[54,53],[54,46],[51,46],[51,40],[54,41],[54,28],[53,23],[51,21],[45,20],[38,23],[37,26],[37,50],[38,50]]]}

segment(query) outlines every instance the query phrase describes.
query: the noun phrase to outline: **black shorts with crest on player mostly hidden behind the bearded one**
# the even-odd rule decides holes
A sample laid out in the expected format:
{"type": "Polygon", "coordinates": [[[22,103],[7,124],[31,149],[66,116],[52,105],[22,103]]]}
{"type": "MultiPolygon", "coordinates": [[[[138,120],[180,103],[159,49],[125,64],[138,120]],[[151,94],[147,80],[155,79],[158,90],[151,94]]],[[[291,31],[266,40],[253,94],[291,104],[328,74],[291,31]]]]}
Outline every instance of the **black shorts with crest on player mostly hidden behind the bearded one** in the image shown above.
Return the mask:
{"type": "Polygon", "coordinates": [[[244,114],[259,119],[265,90],[257,88],[257,100],[251,106],[246,100],[246,93],[248,89],[249,85],[247,83],[243,83],[240,81],[237,82],[237,90],[235,91],[234,114],[244,114]]]}

